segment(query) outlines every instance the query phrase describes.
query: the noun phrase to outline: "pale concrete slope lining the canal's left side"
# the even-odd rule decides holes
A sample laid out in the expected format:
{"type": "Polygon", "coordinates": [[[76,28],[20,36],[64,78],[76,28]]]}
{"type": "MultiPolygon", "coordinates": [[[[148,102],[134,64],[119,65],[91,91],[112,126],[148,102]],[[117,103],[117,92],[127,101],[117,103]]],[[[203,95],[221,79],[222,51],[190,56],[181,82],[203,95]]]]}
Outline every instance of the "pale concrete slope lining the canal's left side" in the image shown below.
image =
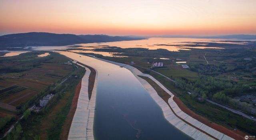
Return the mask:
{"type": "MultiPolygon", "coordinates": [[[[78,64],[80,65],[80,64],[78,64]]],[[[82,66],[82,65],[80,65],[82,66]]],[[[82,66],[84,67],[84,66],[82,66]]],[[[82,85],[76,106],[72,124],[70,126],[68,140],[94,140],[93,123],[94,123],[94,110],[96,103],[96,89],[98,72],[96,69],[96,76],[92,96],[88,98],[88,83],[90,76],[90,69],[86,68],[86,73],[82,78],[82,85]]]]}

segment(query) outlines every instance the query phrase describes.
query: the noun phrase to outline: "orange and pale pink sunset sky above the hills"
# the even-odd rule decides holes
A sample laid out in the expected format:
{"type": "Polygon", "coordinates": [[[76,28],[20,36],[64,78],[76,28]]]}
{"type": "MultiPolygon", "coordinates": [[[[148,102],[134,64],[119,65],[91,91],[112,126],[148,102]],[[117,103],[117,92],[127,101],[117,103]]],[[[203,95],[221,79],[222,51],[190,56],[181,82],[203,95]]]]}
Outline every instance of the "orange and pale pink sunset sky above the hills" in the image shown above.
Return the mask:
{"type": "Polygon", "coordinates": [[[0,35],[256,34],[256,0],[0,0],[0,35]]]}

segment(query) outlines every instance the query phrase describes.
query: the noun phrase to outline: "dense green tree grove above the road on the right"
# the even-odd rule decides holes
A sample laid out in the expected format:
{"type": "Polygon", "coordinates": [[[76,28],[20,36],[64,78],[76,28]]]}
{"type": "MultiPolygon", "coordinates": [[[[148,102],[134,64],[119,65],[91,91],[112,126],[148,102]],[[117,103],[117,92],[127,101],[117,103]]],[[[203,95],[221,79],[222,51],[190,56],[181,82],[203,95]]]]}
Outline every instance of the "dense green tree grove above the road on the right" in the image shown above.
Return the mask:
{"type": "Polygon", "coordinates": [[[256,90],[246,84],[202,75],[195,80],[177,78],[175,81],[174,86],[190,91],[192,93],[191,97],[199,102],[204,102],[208,97],[216,102],[253,114],[251,104],[231,98],[232,96],[239,96],[239,94],[244,92],[248,93],[256,90]]]}

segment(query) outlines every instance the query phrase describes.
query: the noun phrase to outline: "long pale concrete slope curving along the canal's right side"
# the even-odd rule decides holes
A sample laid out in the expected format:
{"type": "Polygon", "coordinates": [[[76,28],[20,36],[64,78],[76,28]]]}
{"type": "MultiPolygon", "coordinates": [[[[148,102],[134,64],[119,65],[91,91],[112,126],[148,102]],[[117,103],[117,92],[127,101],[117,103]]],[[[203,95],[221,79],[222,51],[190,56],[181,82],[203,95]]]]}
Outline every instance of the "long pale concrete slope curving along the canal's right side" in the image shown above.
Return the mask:
{"type": "Polygon", "coordinates": [[[160,106],[166,120],[168,122],[170,122],[170,124],[172,124],[173,126],[178,128],[180,131],[182,131],[185,134],[187,134],[188,136],[190,136],[191,138],[193,138],[195,140],[212,140],[212,139],[233,140],[233,138],[231,138],[217,130],[214,130],[213,128],[210,128],[209,126],[206,126],[205,124],[199,122],[198,120],[196,120],[196,119],[192,118],[191,116],[189,116],[188,114],[184,113],[178,107],[178,105],[174,102],[174,100],[173,100],[174,94],[172,94],[172,92],[170,92],[167,88],[165,88],[154,77],[152,77],[148,74],[143,74],[142,72],[140,72],[140,70],[138,70],[130,65],[126,65],[126,64],[122,64],[122,63],[118,63],[118,62],[112,62],[112,61],[104,60],[104,59],[100,59],[100,58],[96,58],[96,59],[103,60],[105,62],[109,62],[112,64],[116,64],[118,66],[122,66],[122,67],[130,70],[134,74],[134,76],[140,81],[140,83],[144,86],[144,88],[146,88],[146,90],[148,91],[150,96],[160,106]],[[165,90],[168,94],[170,94],[171,98],[169,98],[168,103],[170,104],[170,106],[174,112],[170,109],[168,104],[166,102],[164,102],[164,100],[160,96],[158,96],[156,90],[154,90],[154,88],[146,80],[140,78],[138,75],[146,76],[146,77],[150,78],[151,80],[156,82],[156,84],[158,84],[158,86],[160,86],[163,90],[165,90]],[[182,119],[178,118],[174,113],[182,119]],[[207,134],[205,134],[205,133],[207,133],[207,134]]]}

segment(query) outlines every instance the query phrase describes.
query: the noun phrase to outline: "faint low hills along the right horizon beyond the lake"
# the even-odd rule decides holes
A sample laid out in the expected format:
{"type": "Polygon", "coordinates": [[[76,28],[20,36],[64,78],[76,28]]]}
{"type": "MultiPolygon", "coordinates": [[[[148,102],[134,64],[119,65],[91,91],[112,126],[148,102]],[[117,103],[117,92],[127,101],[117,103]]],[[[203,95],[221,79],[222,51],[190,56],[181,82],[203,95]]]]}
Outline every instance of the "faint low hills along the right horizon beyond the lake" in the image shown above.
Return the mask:
{"type": "Polygon", "coordinates": [[[179,36],[179,35],[163,35],[163,36],[154,36],[162,38],[223,38],[223,39],[256,39],[256,35],[248,34],[232,34],[232,35],[223,35],[223,36],[179,36]]]}

